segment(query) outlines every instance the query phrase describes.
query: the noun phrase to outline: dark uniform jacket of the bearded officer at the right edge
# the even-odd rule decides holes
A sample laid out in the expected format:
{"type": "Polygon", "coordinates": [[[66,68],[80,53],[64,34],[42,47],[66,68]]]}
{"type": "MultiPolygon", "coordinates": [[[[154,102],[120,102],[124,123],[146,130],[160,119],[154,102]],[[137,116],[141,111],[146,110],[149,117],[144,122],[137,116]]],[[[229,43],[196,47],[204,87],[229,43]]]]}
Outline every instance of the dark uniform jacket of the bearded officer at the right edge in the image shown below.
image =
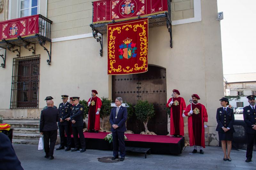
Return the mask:
{"type": "Polygon", "coordinates": [[[252,125],[256,124],[256,115],[251,106],[244,107],[244,122],[246,123],[246,132],[255,134],[256,130],[252,129],[252,125]]]}

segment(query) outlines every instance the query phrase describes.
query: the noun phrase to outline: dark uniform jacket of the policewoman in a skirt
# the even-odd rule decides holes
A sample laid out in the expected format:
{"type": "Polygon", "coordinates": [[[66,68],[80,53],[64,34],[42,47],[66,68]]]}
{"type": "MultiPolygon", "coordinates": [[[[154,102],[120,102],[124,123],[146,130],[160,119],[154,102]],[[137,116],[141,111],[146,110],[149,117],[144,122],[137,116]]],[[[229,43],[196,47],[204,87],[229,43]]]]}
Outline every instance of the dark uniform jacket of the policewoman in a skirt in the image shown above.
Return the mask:
{"type": "Polygon", "coordinates": [[[234,133],[234,127],[233,127],[233,123],[235,121],[235,116],[233,113],[233,109],[231,108],[227,108],[226,114],[224,112],[223,107],[220,107],[217,109],[217,113],[216,113],[216,119],[218,122],[216,131],[221,132],[221,133],[234,133]],[[225,132],[222,127],[225,128],[230,128],[227,132],[225,132]]]}

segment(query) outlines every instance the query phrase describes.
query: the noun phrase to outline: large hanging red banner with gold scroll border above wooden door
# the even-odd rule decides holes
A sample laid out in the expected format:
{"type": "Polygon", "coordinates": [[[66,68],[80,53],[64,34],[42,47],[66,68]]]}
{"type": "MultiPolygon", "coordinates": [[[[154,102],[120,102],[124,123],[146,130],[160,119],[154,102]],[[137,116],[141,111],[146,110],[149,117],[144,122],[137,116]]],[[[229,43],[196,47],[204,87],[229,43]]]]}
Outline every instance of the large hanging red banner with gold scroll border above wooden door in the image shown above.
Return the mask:
{"type": "Polygon", "coordinates": [[[148,71],[148,18],[108,24],[108,74],[148,71]]]}

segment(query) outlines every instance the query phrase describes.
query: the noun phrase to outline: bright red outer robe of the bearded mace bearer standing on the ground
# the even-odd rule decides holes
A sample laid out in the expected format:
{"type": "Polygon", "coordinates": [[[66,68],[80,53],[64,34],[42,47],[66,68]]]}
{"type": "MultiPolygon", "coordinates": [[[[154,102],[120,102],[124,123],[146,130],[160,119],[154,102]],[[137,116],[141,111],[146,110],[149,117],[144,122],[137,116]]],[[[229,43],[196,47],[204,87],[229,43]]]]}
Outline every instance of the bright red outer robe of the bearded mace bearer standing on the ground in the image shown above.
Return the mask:
{"type": "MultiPolygon", "coordinates": [[[[204,105],[201,103],[198,103],[202,106],[202,114],[201,114],[201,119],[202,119],[202,133],[201,133],[201,145],[205,148],[205,142],[204,142],[204,122],[208,122],[208,115],[207,111],[204,105]]],[[[198,105],[197,104],[197,105],[198,105]]],[[[185,111],[185,115],[188,116],[188,136],[189,136],[189,145],[194,146],[195,145],[195,139],[194,139],[194,133],[193,133],[193,122],[192,122],[192,116],[189,116],[189,111],[191,109],[190,107],[191,104],[188,105],[185,111]]],[[[206,124],[206,123],[205,123],[206,124]]]]}

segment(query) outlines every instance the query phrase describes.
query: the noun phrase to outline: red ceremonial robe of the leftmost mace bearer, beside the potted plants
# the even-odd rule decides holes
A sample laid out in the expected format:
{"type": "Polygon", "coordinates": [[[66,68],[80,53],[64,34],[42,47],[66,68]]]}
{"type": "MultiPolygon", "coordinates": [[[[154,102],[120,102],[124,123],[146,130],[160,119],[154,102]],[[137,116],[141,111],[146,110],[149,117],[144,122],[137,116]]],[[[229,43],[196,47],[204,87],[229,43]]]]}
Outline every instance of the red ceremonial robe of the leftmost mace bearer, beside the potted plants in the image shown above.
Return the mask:
{"type": "MultiPolygon", "coordinates": [[[[88,100],[88,102],[91,98],[88,100]]],[[[92,97],[91,105],[89,107],[89,114],[88,114],[88,130],[100,130],[100,114],[96,115],[97,111],[100,111],[102,103],[100,98],[97,96],[92,97]]]]}

